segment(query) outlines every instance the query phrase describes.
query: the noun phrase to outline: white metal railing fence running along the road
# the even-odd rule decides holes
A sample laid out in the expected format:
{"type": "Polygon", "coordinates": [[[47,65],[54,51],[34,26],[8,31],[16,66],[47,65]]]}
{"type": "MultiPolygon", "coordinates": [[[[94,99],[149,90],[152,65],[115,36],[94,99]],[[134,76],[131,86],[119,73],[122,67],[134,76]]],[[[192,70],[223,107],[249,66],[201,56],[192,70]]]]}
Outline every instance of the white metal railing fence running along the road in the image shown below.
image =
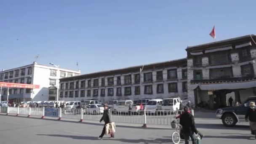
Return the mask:
{"type": "MultiPolygon", "coordinates": [[[[30,108],[30,107],[0,107],[1,113],[28,115],[28,116],[45,116],[45,108],[30,108]]],[[[88,109],[61,109],[59,108],[59,120],[61,118],[83,120],[97,120],[102,117],[101,110],[88,109]]],[[[146,111],[138,110],[136,112],[117,112],[110,111],[113,122],[119,123],[136,123],[150,125],[171,125],[171,121],[175,116],[178,116],[182,111],[146,111]]],[[[192,115],[194,111],[192,110],[192,115]]],[[[58,115],[57,115],[58,116],[58,115]]]]}

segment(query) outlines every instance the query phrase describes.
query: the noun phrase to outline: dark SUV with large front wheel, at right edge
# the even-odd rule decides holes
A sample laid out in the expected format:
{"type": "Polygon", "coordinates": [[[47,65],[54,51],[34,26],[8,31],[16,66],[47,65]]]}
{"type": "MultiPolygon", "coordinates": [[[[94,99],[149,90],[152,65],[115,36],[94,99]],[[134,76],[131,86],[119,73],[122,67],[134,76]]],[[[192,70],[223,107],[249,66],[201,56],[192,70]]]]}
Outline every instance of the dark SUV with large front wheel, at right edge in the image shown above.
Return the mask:
{"type": "Polygon", "coordinates": [[[234,126],[236,123],[245,122],[245,114],[251,101],[256,102],[256,96],[249,97],[238,107],[218,109],[216,117],[221,119],[225,126],[229,127],[234,126]]]}

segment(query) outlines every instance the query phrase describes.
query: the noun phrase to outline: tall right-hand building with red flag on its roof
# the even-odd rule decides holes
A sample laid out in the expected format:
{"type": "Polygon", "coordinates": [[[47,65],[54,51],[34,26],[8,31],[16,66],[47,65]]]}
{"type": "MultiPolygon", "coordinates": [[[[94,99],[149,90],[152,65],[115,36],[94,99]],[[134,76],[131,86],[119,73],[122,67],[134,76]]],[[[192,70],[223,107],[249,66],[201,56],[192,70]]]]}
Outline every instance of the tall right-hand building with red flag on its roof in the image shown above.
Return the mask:
{"type": "Polygon", "coordinates": [[[188,97],[202,107],[225,107],[256,95],[255,35],[187,47],[188,97]]]}

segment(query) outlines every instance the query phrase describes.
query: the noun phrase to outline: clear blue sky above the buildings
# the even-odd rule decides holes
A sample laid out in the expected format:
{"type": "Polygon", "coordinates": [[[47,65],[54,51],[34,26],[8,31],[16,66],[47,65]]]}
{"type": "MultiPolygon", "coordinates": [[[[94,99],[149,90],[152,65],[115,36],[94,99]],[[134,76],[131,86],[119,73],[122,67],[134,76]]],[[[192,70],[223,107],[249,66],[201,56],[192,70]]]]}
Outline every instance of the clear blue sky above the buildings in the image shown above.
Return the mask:
{"type": "Polygon", "coordinates": [[[1,0],[0,69],[83,74],[180,59],[187,45],[255,34],[256,0],[1,0]],[[17,40],[19,39],[19,40],[17,40]]]}

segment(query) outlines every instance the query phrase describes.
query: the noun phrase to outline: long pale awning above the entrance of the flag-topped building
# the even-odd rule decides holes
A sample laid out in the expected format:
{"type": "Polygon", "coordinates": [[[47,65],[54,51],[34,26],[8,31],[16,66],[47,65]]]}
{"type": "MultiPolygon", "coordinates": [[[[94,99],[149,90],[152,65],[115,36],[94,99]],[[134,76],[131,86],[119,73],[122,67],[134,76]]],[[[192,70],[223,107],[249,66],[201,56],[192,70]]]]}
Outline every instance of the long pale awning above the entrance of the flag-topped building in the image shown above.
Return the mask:
{"type": "Polygon", "coordinates": [[[240,82],[222,82],[222,83],[192,83],[190,88],[201,90],[221,90],[221,89],[240,89],[240,88],[253,88],[256,87],[256,80],[240,81],[240,82]]]}

